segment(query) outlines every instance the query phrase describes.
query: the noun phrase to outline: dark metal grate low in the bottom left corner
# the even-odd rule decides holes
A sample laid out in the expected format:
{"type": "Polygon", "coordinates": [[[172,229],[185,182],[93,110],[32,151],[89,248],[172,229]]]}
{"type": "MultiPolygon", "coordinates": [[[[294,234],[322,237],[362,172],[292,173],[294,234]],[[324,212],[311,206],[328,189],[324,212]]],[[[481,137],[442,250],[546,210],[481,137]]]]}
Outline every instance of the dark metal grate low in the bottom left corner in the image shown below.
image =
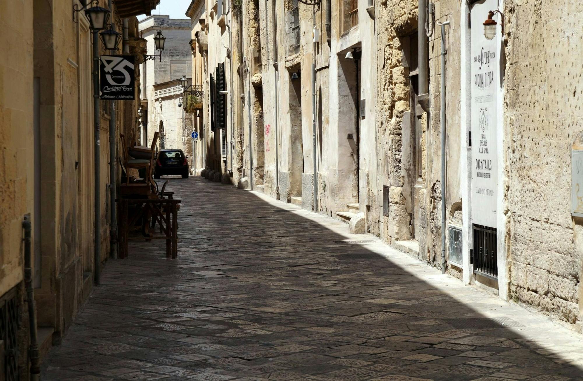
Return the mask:
{"type": "Polygon", "coordinates": [[[19,327],[19,305],[16,299],[16,291],[7,292],[0,298],[0,343],[3,343],[4,362],[3,375],[0,379],[6,381],[18,381],[18,327],[19,327]]]}

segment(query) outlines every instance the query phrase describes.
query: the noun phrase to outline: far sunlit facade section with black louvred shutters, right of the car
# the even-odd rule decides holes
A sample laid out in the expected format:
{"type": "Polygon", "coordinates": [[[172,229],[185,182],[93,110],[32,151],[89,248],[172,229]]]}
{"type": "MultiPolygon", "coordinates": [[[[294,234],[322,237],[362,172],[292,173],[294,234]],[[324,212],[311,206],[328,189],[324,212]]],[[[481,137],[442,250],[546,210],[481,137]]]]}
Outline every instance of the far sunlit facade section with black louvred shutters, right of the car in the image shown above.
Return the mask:
{"type": "Polygon", "coordinates": [[[187,9],[195,62],[192,84],[203,98],[202,110],[191,113],[202,136],[196,160],[203,163],[200,172],[206,178],[223,184],[237,184],[243,175],[241,11],[240,3],[229,0],[195,0],[187,9]]]}

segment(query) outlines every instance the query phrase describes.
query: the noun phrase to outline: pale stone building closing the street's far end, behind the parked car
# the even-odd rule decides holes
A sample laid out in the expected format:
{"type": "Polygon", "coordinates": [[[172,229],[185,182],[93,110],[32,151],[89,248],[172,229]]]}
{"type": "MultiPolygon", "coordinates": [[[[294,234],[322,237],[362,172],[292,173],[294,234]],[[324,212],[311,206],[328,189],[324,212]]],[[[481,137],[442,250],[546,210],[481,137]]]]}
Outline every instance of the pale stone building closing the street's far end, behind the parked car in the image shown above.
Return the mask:
{"type": "MultiPolygon", "coordinates": [[[[147,54],[156,55],[154,36],[161,31],[166,42],[159,57],[141,64],[142,115],[141,142],[152,143],[154,132],[159,133],[161,148],[191,147],[187,140],[192,127],[185,123],[185,114],[178,110],[182,91],[180,79],[191,76],[191,25],[188,19],[171,19],[168,15],[152,15],[139,22],[141,37],[146,40],[147,54]]],[[[192,148],[192,147],[191,147],[192,148]]]]}

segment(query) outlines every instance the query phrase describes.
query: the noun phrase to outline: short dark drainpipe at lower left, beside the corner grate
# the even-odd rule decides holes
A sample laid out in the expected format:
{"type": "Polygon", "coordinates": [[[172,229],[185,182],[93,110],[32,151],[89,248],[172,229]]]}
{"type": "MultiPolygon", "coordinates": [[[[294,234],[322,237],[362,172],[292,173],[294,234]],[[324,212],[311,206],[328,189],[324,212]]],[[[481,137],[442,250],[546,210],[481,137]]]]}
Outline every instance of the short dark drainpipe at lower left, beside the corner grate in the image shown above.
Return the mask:
{"type": "Polygon", "coordinates": [[[30,223],[30,215],[24,217],[22,221],[22,228],[24,229],[24,284],[26,284],[26,298],[29,305],[29,327],[30,327],[30,380],[40,380],[40,351],[38,350],[38,331],[36,319],[36,303],[34,302],[34,288],[33,288],[33,271],[32,271],[32,252],[30,249],[30,235],[32,225],[30,223]]]}

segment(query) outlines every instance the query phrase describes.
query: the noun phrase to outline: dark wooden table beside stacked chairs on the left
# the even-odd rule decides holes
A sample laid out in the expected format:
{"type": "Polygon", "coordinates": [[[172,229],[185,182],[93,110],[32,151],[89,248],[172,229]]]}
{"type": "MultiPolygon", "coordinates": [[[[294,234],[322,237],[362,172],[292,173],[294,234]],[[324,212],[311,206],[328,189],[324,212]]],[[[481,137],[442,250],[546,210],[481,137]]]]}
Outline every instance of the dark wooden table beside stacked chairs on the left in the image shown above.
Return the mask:
{"type": "Polygon", "coordinates": [[[118,203],[118,228],[120,231],[118,241],[118,256],[128,256],[129,239],[166,239],[166,257],[178,256],[178,204],[175,199],[117,199],[118,203]],[[129,231],[142,217],[142,234],[144,237],[129,237],[129,231]],[[156,236],[150,229],[147,220],[153,218],[160,225],[160,231],[164,235],[156,236]]]}

